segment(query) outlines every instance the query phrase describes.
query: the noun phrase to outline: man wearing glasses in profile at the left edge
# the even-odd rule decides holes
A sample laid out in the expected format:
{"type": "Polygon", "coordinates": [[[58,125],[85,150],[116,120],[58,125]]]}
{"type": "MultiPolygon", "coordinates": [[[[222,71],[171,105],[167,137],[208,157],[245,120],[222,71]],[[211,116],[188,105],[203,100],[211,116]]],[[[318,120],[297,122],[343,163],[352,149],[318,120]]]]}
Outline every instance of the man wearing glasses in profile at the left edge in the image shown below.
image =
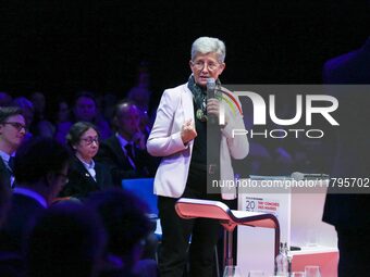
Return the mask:
{"type": "Polygon", "coordinates": [[[12,155],[21,146],[26,134],[23,112],[16,106],[0,106],[0,176],[5,184],[13,186],[12,155]]]}

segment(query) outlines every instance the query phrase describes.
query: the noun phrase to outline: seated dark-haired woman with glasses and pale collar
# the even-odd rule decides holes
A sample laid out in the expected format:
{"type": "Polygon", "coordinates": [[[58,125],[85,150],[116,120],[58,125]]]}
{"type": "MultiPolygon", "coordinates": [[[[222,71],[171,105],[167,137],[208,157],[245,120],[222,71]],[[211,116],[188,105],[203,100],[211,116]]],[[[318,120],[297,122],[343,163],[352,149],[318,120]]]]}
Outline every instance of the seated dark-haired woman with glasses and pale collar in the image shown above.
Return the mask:
{"type": "Polygon", "coordinates": [[[77,122],[70,128],[66,141],[74,151],[74,156],[70,165],[69,182],[62,196],[83,200],[91,191],[111,187],[110,172],[103,164],[94,161],[100,143],[97,127],[88,122],[77,122]]]}

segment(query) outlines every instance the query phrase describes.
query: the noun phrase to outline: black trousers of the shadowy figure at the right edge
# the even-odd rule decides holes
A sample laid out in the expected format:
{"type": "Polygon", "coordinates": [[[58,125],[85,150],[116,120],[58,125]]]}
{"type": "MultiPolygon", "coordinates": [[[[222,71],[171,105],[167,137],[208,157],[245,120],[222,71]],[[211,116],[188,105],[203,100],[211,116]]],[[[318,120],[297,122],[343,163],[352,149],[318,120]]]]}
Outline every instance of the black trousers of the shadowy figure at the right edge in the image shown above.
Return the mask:
{"type": "Polygon", "coordinates": [[[370,230],[336,229],[338,236],[338,277],[370,276],[370,230]]]}

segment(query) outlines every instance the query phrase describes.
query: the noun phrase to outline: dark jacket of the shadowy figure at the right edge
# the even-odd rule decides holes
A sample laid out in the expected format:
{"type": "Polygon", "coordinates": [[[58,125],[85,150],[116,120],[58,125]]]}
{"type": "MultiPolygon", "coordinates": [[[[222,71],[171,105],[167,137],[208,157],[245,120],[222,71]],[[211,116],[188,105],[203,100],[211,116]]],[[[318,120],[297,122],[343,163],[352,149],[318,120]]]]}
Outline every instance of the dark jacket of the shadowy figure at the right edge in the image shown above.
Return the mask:
{"type": "MultiPolygon", "coordinates": [[[[326,62],[323,77],[325,84],[370,84],[370,39],[362,48],[326,62]]],[[[369,178],[370,91],[359,93],[358,89],[353,89],[349,92],[337,97],[340,128],[331,177],[369,178]]],[[[333,190],[330,188],[329,192],[340,192],[343,188],[333,190]]],[[[369,192],[329,193],[322,219],[337,229],[369,229],[369,192]]]]}

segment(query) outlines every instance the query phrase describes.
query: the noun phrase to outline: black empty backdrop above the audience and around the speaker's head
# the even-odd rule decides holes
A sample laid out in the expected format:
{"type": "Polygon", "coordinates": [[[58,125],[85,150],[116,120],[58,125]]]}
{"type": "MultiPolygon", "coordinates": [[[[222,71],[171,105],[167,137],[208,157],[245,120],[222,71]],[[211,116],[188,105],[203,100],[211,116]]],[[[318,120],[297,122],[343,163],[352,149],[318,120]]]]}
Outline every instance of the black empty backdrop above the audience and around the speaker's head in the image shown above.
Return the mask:
{"type": "Polygon", "coordinates": [[[224,84],[319,84],[323,62],[370,33],[365,0],[1,3],[0,90],[14,96],[84,88],[123,97],[146,60],[159,98],[187,80],[199,36],[225,41],[224,84]]]}

